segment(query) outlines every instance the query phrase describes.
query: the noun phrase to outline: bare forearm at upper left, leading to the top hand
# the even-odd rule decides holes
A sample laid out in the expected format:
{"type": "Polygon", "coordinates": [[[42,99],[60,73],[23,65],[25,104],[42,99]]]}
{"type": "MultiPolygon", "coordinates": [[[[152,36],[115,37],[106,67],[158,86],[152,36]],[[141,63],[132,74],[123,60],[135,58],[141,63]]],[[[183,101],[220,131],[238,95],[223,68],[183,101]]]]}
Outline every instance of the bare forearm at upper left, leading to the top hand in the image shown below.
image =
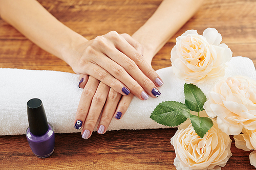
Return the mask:
{"type": "Polygon", "coordinates": [[[72,54],[73,47],[87,41],[35,0],[0,0],[0,15],[35,44],[68,64],[71,61],[65,54],[72,54]]]}

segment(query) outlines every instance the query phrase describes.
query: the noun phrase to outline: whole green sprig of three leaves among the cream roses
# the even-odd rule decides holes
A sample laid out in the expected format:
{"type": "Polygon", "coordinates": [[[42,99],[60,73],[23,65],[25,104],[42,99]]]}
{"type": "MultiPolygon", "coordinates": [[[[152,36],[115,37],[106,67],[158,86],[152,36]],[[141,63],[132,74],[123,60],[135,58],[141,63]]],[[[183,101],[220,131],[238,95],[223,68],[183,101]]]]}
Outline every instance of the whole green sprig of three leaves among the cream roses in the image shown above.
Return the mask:
{"type": "Polygon", "coordinates": [[[209,117],[200,117],[200,111],[204,110],[206,96],[196,85],[186,83],[184,84],[184,95],[185,104],[176,101],[161,102],[150,117],[157,123],[170,127],[178,126],[189,118],[196,133],[203,138],[213,126],[209,117]],[[191,114],[190,110],[197,112],[198,116],[191,114]]]}

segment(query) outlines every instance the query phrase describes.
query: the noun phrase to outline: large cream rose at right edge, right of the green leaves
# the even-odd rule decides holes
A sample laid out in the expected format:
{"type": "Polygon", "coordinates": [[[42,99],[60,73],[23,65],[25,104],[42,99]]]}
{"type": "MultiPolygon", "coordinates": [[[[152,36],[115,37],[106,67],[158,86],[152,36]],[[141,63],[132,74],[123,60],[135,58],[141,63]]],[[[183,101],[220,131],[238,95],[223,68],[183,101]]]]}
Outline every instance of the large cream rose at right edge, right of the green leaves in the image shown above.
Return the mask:
{"type": "Polygon", "coordinates": [[[218,82],[204,109],[208,116],[218,116],[218,127],[228,135],[240,134],[243,127],[256,129],[256,81],[236,76],[218,82]]]}

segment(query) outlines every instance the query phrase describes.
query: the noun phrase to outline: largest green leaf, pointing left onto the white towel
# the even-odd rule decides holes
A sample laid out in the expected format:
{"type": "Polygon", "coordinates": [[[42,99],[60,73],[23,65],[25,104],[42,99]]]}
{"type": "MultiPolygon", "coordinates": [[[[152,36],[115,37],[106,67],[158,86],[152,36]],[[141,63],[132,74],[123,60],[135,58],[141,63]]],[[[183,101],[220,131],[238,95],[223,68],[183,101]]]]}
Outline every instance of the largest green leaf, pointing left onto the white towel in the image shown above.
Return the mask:
{"type": "Polygon", "coordinates": [[[165,101],[157,105],[150,118],[161,125],[174,127],[185,122],[190,115],[189,108],[185,104],[165,101]]]}

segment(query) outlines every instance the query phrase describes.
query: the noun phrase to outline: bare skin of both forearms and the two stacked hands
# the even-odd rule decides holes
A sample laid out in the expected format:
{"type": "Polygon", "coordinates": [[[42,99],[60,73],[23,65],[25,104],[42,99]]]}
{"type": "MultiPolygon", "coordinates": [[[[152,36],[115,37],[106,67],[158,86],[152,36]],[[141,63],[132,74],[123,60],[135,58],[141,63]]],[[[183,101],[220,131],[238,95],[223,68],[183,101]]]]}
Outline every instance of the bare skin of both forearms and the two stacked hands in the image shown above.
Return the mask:
{"type": "Polygon", "coordinates": [[[106,132],[113,115],[121,112],[123,116],[134,95],[141,100],[145,100],[142,94],[156,98],[152,89],[158,89],[162,80],[150,66],[151,61],[202,3],[203,0],[164,0],[132,37],[111,31],[93,40],[63,25],[34,0],[0,0],[0,15],[84,78],[79,85],[84,89],[75,122],[83,122],[82,136],[88,139],[102,108],[97,127],[100,134],[106,132]],[[126,95],[123,87],[131,93],[126,95]]]}

